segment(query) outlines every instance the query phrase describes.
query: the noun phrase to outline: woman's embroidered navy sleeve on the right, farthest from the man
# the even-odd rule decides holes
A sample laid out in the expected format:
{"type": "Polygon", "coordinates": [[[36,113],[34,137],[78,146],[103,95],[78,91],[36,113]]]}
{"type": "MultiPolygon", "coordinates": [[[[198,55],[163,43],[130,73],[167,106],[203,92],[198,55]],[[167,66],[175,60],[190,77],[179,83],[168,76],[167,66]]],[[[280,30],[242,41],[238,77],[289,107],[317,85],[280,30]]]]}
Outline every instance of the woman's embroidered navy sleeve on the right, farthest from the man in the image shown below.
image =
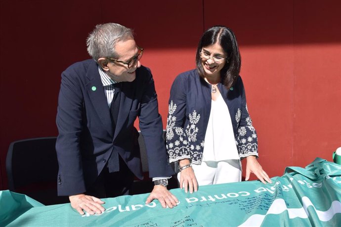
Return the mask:
{"type": "Polygon", "coordinates": [[[242,109],[238,109],[236,114],[236,120],[237,122],[239,121],[236,141],[239,157],[244,158],[250,155],[256,155],[258,157],[256,129],[252,125],[252,120],[248,112],[242,78],[239,77],[239,80],[242,99],[242,109]]]}

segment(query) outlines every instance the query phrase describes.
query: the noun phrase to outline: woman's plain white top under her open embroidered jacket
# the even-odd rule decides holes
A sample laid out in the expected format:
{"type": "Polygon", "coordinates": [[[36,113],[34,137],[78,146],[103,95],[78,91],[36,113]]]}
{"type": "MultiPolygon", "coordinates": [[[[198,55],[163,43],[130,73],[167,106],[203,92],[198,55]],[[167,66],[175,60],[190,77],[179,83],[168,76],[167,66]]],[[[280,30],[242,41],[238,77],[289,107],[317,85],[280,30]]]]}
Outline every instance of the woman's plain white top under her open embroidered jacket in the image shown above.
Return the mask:
{"type": "Polygon", "coordinates": [[[212,100],[211,113],[205,134],[203,161],[239,159],[230,112],[219,95],[212,100]]]}

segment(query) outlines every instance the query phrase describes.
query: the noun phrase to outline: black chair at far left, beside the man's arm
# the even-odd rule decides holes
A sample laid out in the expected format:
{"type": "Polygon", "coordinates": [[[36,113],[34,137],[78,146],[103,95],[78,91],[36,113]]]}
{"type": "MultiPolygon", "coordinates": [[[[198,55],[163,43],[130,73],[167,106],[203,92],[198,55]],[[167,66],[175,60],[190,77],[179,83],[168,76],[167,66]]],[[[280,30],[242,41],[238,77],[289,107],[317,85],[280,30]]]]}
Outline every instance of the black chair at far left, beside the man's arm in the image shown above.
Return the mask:
{"type": "Polygon", "coordinates": [[[6,157],[8,189],[23,193],[44,205],[70,202],[57,196],[56,137],[14,141],[6,157]]]}

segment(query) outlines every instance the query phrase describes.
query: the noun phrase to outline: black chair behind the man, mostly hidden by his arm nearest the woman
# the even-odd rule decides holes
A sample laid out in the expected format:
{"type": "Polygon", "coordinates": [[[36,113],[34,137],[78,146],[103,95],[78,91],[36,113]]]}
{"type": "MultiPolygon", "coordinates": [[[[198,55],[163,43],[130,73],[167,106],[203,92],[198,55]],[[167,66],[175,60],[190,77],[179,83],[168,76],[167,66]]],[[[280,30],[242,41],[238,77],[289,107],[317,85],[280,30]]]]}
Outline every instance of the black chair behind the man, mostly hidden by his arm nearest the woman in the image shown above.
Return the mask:
{"type": "MultiPolygon", "coordinates": [[[[149,169],[148,169],[148,158],[147,158],[147,151],[146,146],[144,143],[143,136],[139,131],[138,137],[138,144],[140,147],[140,154],[141,154],[141,162],[142,162],[142,172],[143,172],[143,180],[135,179],[132,188],[130,190],[131,194],[143,194],[143,193],[150,193],[153,190],[154,183],[151,178],[149,178],[149,169]]],[[[164,130],[164,139],[165,139],[166,132],[164,130]]],[[[171,179],[168,180],[168,189],[175,189],[178,188],[178,182],[176,175],[172,176],[171,179]]]]}

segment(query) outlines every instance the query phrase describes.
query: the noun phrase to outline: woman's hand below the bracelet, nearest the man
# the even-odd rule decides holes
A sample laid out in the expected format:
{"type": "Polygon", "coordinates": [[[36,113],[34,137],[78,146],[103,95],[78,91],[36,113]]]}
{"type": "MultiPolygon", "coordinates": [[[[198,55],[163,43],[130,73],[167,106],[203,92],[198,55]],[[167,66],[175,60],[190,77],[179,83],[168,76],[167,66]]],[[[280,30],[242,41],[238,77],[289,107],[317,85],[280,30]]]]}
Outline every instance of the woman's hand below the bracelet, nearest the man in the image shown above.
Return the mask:
{"type": "MultiPolygon", "coordinates": [[[[190,164],[189,159],[182,159],[179,161],[180,168],[188,164],[190,164]]],[[[182,188],[185,189],[186,193],[188,192],[188,189],[190,193],[198,191],[198,182],[192,167],[185,168],[180,172],[180,189],[182,188]]]]}

